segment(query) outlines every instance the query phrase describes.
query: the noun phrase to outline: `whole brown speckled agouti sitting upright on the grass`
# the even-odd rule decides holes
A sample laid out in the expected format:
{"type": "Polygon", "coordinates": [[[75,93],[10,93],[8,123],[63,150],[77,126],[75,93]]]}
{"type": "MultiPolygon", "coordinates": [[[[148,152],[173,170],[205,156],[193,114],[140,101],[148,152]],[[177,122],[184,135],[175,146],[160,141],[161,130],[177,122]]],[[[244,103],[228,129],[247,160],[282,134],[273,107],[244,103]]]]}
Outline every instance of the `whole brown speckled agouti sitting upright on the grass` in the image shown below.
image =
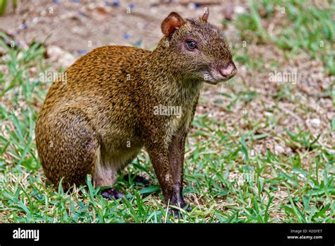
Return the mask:
{"type": "Polygon", "coordinates": [[[204,84],[237,73],[220,31],[202,18],[172,12],[153,52],[105,46],[78,59],[66,79],[52,83],[37,119],[37,151],[49,180],[68,189],[86,175],[113,189],[120,170],[144,146],[165,201],[185,207],[182,197],[184,143],[204,84]],[[159,110],[158,110],[159,109],[159,110]],[[177,114],[175,109],[180,109],[177,114]]]}

